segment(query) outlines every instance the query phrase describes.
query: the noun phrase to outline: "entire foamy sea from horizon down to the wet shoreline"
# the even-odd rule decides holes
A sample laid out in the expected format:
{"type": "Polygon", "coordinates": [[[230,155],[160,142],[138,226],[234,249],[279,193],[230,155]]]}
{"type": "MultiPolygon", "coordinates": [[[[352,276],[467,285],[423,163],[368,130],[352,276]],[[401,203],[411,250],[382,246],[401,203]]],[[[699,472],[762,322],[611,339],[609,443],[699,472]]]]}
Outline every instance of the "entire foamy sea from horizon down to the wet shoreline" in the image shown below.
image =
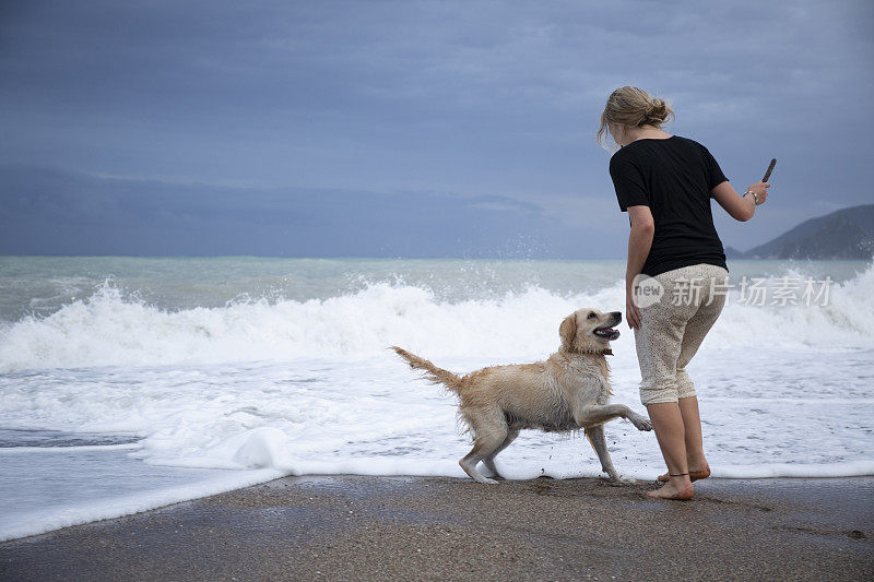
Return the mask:
{"type": "MultiPolygon", "coordinates": [[[[767,295],[732,289],[689,366],[713,474],[874,474],[871,263],[729,266],[767,295]]],[[[566,314],[624,308],[623,274],[622,261],[0,258],[0,539],[288,474],[464,476],[454,397],[387,347],[457,372],[542,359],[566,314]]],[[[643,413],[619,329],[613,400],[643,413]]],[[[623,475],[663,470],[652,432],[615,420],[607,437],[623,475]]],[[[574,435],[523,432],[497,465],[600,475],[574,435]]]]}

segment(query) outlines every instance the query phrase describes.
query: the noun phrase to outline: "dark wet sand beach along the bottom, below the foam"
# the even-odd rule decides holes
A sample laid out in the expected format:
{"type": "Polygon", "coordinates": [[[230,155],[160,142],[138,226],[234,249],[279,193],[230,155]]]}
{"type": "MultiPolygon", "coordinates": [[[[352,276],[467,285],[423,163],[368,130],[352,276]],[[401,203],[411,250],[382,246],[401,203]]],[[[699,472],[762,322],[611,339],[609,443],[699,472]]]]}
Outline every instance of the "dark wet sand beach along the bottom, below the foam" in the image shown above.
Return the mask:
{"type": "Polygon", "coordinates": [[[0,544],[0,579],[874,579],[874,478],[650,488],[287,477],[0,544]]]}

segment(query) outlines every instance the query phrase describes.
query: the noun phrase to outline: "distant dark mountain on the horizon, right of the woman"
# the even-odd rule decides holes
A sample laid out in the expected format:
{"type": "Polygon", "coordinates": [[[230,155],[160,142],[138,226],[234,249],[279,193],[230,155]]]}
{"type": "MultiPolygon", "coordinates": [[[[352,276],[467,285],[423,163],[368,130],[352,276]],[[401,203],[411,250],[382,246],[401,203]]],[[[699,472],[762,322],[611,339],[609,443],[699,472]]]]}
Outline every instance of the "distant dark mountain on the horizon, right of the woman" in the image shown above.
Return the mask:
{"type": "Polygon", "coordinates": [[[729,259],[857,259],[874,253],[874,204],[811,218],[746,252],[725,248],[729,259]]]}

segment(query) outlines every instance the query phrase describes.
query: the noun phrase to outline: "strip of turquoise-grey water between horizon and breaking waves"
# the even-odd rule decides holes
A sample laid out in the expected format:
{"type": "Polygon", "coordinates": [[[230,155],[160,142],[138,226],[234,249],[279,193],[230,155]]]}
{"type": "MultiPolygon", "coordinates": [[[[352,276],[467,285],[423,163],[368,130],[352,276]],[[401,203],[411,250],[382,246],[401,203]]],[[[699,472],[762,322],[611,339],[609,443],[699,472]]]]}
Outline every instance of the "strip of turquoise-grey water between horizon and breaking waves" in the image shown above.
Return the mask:
{"type": "MultiPolygon", "coordinates": [[[[793,271],[843,282],[864,272],[867,263],[732,261],[729,269],[733,278],[793,271]]],[[[624,275],[621,260],[0,257],[0,321],[50,314],[106,285],[160,309],[179,310],[261,298],[329,298],[380,282],[427,288],[447,301],[530,287],[568,296],[607,287],[624,275]]]]}

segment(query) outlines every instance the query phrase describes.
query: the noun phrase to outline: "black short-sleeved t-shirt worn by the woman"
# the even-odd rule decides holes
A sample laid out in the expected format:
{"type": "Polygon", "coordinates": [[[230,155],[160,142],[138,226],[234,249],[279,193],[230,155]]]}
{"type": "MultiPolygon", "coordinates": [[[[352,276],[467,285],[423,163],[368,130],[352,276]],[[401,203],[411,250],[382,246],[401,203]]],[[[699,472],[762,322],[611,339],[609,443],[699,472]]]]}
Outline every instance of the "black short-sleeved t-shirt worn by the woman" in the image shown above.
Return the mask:
{"type": "Polygon", "coordinates": [[[656,231],[642,273],[708,263],[728,269],[710,191],[728,178],[707,147],[680,135],[637,140],[610,158],[619,209],[646,205],[656,231]]]}

